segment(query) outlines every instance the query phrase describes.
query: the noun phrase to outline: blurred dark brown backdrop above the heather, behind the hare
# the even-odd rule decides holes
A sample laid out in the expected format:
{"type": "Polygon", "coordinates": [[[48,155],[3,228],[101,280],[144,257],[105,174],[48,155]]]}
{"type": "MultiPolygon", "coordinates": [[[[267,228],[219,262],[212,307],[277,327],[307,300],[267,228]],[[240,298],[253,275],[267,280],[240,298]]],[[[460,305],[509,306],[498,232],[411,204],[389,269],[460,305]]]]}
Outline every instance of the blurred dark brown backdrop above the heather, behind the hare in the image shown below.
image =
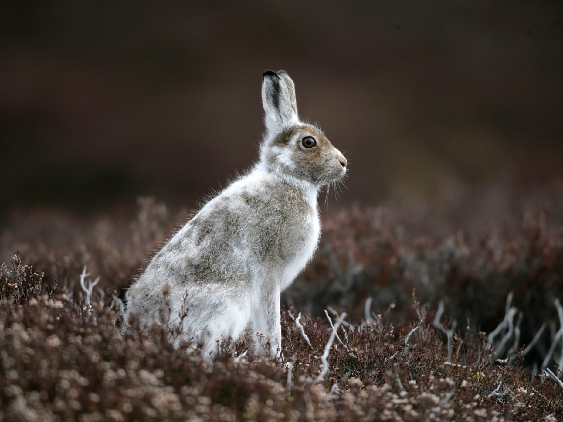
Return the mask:
{"type": "Polygon", "coordinates": [[[139,194],[193,207],[256,159],[266,68],[346,150],[341,204],[488,195],[494,210],[499,192],[561,186],[559,1],[73,0],[0,16],[3,216],[139,194]]]}

